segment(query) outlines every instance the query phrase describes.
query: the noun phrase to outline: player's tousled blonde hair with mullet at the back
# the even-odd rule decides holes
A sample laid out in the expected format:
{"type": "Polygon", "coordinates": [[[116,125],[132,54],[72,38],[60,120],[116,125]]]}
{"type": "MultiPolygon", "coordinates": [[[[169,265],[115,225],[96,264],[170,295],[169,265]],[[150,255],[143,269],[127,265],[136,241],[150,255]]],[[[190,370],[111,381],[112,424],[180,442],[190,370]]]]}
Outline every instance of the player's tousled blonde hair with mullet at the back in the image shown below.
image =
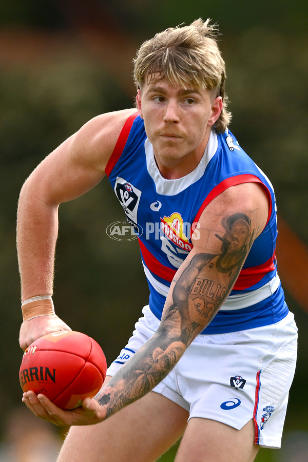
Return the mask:
{"type": "Polygon", "coordinates": [[[201,18],[189,26],[168,28],[144,42],[134,59],[134,81],[137,88],[143,83],[164,77],[172,84],[213,90],[220,96],[223,108],[215,124],[223,133],[231,113],[227,111],[225,94],[225,63],[217,44],[218,28],[201,18]]]}

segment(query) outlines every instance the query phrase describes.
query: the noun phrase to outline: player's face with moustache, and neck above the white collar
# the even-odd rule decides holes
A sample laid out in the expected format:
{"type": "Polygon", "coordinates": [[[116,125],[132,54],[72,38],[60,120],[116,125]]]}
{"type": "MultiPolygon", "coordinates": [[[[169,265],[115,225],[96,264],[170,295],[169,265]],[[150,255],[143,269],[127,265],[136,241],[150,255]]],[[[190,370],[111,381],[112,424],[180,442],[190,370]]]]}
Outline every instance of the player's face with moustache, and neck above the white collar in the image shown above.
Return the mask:
{"type": "Polygon", "coordinates": [[[221,98],[214,99],[210,90],[159,79],[138,90],[137,105],[162,174],[165,169],[178,169],[180,176],[188,173],[189,166],[193,170],[221,112],[221,98]]]}

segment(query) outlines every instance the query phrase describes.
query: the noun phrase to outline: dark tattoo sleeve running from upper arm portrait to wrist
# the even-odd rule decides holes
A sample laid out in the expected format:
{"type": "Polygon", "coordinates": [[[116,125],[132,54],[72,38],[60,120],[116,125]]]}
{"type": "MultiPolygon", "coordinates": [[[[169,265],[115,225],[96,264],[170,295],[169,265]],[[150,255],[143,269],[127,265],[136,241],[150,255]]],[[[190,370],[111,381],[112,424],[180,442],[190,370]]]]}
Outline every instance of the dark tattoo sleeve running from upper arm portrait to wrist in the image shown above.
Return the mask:
{"type": "Polygon", "coordinates": [[[106,416],[155,387],[175,366],[185,349],[205,329],[228,296],[253,242],[251,220],[234,214],[222,220],[216,234],[221,252],[197,253],[172,281],[157,332],[134,354],[95,397],[106,416]]]}

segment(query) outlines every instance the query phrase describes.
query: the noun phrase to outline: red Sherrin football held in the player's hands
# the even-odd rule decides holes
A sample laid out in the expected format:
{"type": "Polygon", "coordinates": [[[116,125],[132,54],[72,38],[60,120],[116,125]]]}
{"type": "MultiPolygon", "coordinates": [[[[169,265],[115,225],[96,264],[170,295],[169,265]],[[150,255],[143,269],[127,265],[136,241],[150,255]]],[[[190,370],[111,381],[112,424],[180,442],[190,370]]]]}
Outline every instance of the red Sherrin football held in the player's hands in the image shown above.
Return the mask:
{"type": "Polygon", "coordinates": [[[24,392],[43,393],[62,409],[81,406],[102,387],[106,358],[86,334],[54,332],[38,338],[24,353],[20,382],[24,392]]]}

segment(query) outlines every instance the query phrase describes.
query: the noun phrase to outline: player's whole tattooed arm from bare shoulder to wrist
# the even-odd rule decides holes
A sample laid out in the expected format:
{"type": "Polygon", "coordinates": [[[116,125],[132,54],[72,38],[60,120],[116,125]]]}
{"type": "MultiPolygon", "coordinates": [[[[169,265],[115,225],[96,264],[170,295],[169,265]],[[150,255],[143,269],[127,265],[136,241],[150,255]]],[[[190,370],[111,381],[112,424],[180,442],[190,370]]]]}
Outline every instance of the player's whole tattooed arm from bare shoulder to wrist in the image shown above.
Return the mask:
{"type": "Polygon", "coordinates": [[[200,239],[194,241],[194,249],[171,284],[159,329],[96,397],[106,416],[155,387],[232,290],[268,213],[267,199],[259,186],[235,188],[204,211],[200,239]]]}

